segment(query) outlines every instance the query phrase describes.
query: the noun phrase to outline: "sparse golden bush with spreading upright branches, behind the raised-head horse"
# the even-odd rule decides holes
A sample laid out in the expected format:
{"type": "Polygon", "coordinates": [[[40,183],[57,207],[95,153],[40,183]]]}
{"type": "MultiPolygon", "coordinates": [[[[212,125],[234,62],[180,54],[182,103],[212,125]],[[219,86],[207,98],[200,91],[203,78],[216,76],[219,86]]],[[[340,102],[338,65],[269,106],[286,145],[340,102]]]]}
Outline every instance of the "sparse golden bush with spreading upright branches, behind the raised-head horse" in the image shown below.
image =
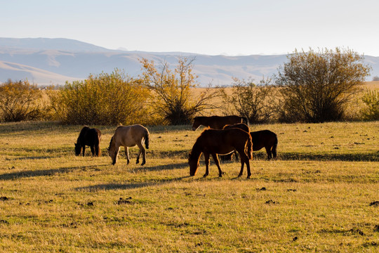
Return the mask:
{"type": "Polygon", "coordinates": [[[213,98],[220,96],[219,89],[208,86],[201,91],[197,75],[193,74],[194,58],[179,57],[178,65],[171,69],[166,61],[157,67],[153,60],[146,58],[142,63],[144,84],[152,91],[151,105],[166,124],[189,124],[198,112],[216,108],[213,98]]]}

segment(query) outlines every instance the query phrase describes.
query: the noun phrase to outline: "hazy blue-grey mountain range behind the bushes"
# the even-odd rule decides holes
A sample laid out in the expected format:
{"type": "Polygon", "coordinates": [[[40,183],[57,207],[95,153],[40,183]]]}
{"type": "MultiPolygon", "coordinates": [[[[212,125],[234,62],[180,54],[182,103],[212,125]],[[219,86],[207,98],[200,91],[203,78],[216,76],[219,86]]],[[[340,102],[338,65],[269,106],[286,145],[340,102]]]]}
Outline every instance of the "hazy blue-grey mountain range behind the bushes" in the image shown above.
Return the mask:
{"type": "MultiPolygon", "coordinates": [[[[85,79],[89,74],[125,70],[136,77],[142,72],[140,58],[154,60],[159,65],[167,61],[174,67],[178,56],[195,57],[194,73],[201,86],[230,85],[232,77],[262,77],[277,73],[279,65],[287,61],[278,56],[206,56],[195,53],[111,50],[73,39],[13,39],[0,38],[0,82],[7,79],[28,79],[38,85],[61,85],[66,81],[85,79]]],[[[365,56],[373,67],[371,77],[379,76],[379,57],[365,56]]]]}

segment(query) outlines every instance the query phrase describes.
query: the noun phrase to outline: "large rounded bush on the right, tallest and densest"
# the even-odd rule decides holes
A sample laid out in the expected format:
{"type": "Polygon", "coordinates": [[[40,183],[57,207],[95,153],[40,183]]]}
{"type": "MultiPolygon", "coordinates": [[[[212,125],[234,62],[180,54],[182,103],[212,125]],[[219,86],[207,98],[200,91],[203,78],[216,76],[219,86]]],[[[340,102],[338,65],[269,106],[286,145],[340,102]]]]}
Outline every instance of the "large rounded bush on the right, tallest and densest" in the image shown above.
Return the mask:
{"type": "Polygon", "coordinates": [[[279,67],[284,122],[328,122],[343,118],[345,105],[368,76],[364,56],[351,50],[295,51],[279,67]]]}

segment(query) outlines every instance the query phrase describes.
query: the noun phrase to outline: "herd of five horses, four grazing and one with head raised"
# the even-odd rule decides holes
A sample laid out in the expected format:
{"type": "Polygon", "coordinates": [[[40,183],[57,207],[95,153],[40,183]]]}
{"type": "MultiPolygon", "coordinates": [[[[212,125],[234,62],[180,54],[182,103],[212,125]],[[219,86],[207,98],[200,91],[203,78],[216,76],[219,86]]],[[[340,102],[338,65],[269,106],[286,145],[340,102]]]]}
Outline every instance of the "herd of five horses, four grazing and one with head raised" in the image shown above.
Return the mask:
{"type": "MultiPolygon", "coordinates": [[[[239,176],[244,172],[246,164],[247,178],[251,176],[250,160],[253,159],[253,151],[265,148],[267,159],[277,159],[277,134],[270,130],[250,131],[247,119],[235,115],[231,116],[211,116],[195,117],[192,124],[192,130],[196,131],[199,126],[206,126],[208,129],[201,132],[195,141],[192,150],[189,153],[189,175],[194,176],[199,168],[201,154],[204,154],[206,173],[209,174],[209,157],[212,155],[215,165],[218,167],[218,176],[222,176],[220,161],[218,155],[238,154],[241,160],[241,170],[239,176]]],[[[99,129],[91,129],[84,126],[81,129],[77,143],[75,143],[75,155],[85,153],[86,146],[91,148],[93,156],[100,156],[101,132],[99,129]]],[[[112,158],[112,164],[116,164],[119,149],[124,147],[127,163],[129,164],[129,147],[138,146],[140,152],[137,157],[137,164],[140,162],[142,154],[142,163],[146,163],[146,150],[149,149],[149,131],[145,126],[134,124],[131,126],[118,126],[109,142],[107,148],[109,157],[112,158]]]]}

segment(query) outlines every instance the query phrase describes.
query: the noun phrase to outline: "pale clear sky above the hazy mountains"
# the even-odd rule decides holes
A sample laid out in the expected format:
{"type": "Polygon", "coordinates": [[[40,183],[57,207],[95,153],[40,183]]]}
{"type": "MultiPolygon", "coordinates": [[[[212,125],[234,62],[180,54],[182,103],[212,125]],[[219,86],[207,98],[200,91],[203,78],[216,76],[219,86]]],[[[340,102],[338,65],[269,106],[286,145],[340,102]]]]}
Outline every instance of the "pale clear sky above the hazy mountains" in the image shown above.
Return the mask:
{"type": "Polygon", "coordinates": [[[349,48],[379,56],[378,0],[0,0],[0,37],[247,56],[349,48]]]}

